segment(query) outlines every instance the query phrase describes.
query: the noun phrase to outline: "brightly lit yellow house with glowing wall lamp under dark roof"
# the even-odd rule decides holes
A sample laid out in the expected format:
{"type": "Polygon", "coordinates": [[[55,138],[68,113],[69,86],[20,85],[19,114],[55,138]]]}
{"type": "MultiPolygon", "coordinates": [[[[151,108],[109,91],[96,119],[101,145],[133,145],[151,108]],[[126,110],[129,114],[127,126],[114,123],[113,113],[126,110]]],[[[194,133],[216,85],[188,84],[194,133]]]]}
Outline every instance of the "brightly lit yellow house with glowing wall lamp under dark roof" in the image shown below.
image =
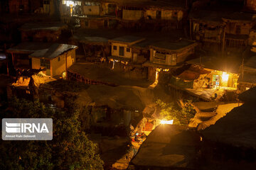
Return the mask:
{"type": "Polygon", "coordinates": [[[219,88],[237,89],[238,76],[242,60],[237,57],[200,57],[188,60],[188,64],[200,66],[206,70],[198,79],[193,81],[193,89],[219,88]]]}

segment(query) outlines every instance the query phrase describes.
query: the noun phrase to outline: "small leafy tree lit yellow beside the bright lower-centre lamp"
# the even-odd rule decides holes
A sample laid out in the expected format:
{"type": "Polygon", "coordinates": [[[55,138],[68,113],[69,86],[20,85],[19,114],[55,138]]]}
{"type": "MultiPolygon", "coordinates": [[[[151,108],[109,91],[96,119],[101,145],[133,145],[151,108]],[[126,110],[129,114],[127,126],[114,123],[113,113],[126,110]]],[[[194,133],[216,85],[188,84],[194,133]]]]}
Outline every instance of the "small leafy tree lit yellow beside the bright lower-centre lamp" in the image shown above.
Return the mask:
{"type": "Polygon", "coordinates": [[[178,106],[177,103],[164,103],[157,100],[156,103],[160,106],[160,117],[163,120],[174,120],[176,125],[188,125],[189,120],[194,117],[196,110],[191,105],[191,101],[187,101],[183,106],[178,106]]]}

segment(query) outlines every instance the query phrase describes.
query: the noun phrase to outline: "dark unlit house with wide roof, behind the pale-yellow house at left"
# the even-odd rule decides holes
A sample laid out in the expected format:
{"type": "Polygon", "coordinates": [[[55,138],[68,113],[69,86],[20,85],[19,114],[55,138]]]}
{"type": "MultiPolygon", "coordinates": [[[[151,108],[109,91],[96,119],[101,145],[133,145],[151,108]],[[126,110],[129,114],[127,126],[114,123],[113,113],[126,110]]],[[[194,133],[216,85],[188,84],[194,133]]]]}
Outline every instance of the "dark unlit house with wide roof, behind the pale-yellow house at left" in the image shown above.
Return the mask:
{"type": "Polygon", "coordinates": [[[68,26],[64,23],[25,23],[19,30],[22,41],[56,42],[68,26]]]}

